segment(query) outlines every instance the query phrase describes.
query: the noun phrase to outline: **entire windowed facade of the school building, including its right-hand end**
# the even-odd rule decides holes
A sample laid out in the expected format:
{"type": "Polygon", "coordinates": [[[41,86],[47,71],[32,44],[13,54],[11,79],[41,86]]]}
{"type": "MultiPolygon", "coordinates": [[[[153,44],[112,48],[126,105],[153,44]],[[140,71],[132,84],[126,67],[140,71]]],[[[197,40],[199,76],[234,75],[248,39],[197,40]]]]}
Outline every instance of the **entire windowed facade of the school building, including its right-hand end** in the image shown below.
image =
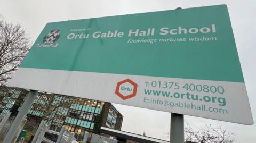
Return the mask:
{"type": "MultiPolygon", "coordinates": [[[[16,111],[18,113],[27,94],[28,91],[25,89],[1,87],[0,116],[12,111],[14,103],[19,103],[16,111]]],[[[75,132],[75,138],[81,140],[85,131],[92,133],[95,119],[99,119],[104,104],[99,100],[38,92],[28,116],[31,119],[38,119],[37,122],[46,120],[50,130],[54,131],[60,131],[62,125],[65,125],[67,134],[75,132]]],[[[106,125],[103,126],[115,129],[119,112],[110,103],[107,104],[104,119],[106,125]]]]}

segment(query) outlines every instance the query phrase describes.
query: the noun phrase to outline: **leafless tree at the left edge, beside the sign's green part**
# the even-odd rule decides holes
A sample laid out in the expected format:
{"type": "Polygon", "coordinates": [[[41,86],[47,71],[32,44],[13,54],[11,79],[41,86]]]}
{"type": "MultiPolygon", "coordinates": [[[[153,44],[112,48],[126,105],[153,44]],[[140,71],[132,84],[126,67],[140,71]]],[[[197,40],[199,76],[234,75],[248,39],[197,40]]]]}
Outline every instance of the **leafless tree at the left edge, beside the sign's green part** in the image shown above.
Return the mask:
{"type": "Polygon", "coordinates": [[[0,15],[0,85],[6,85],[12,78],[30,45],[20,24],[6,22],[0,15]]]}

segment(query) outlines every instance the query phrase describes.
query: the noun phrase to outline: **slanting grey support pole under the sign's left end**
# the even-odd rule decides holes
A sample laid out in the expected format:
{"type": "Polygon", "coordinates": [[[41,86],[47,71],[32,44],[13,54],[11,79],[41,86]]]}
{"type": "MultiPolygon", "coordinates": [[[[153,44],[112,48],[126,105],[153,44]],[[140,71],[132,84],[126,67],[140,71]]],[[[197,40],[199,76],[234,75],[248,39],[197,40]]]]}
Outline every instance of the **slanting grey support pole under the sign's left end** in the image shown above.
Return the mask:
{"type": "Polygon", "coordinates": [[[27,115],[31,105],[34,102],[34,99],[37,95],[36,90],[30,90],[28,96],[26,97],[23,105],[20,107],[19,113],[18,115],[15,117],[11,128],[9,129],[8,133],[6,134],[3,143],[10,143],[11,139],[13,137],[13,134],[15,133],[15,131],[19,128],[19,124],[23,119],[23,116],[27,115]]]}

